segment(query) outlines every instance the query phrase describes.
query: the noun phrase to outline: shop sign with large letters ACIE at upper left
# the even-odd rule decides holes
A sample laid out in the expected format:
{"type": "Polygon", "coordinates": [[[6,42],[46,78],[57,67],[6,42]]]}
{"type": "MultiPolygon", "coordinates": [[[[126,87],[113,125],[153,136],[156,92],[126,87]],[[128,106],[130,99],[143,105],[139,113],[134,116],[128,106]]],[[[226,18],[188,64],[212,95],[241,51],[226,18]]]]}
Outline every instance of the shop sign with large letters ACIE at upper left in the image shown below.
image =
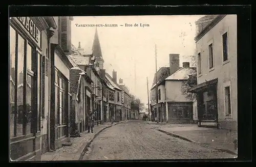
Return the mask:
{"type": "Polygon", "coordinates": [[[35,42],[40,46],[41,32],[35,25],[35,23],[29,17],[17,17],[19,22],[22,23],[28,34],[35,40],[35,42]]]}

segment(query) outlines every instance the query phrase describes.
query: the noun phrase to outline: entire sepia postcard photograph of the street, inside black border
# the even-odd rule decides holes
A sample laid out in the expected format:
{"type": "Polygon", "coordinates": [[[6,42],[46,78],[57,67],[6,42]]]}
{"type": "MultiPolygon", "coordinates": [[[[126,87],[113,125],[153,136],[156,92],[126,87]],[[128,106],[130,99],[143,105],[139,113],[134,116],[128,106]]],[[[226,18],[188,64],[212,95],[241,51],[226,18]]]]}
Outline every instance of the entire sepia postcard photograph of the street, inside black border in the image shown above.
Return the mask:
{"type": "Polygon", "coordinates": [[[237,15],[9,19],[10,161],[238,157],[237,15]]]}

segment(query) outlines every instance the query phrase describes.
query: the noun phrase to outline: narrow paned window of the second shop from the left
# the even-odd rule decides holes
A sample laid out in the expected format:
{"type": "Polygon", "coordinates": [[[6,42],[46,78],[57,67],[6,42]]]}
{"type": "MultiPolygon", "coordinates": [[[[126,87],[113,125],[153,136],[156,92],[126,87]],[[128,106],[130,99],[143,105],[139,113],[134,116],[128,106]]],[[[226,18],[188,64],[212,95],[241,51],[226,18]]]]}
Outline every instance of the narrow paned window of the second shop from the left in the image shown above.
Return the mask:
{"type": "Polygon", "coordinates": [[[67,132],[68,80],[55,69],[55,109],[57,112],[58,138],[67,132]]]}

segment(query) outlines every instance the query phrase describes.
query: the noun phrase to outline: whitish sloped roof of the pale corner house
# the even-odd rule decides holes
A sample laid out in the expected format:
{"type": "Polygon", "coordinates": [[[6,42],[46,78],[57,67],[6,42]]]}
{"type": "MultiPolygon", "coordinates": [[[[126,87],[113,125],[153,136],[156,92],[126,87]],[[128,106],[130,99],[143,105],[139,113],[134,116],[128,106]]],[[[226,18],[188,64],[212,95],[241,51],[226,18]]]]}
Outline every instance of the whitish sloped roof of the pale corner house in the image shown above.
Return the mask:
{"type": "Polygon", "coordinates": [[[168,76],[165,80],[180,80],[180,79],[188,79],[188,75],[196,74],[195,67],[182,67],[181,69],[177,70],[172,75],[168,76]]]}

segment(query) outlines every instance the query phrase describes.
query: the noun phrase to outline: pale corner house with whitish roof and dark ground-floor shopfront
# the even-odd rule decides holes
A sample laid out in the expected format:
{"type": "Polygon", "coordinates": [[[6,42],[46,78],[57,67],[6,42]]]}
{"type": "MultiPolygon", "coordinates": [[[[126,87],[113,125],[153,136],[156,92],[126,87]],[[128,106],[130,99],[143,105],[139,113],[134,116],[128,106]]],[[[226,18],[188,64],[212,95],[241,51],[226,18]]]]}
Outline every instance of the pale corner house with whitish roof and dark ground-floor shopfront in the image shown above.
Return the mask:
{"type": "Polygon", "coordinates": [[[193,123],[193,113],[196,113],[193,112],[193,104],[196,101],[184,96],[182,84],[190,74],[195,73],[195,67],[189,67],[188,62],[183,62],[183,67],[165,78],[165,85],[159,86],[159,101],[163,102],[161,109],[167,111],[164,115],[166,122],[193,123]],[[161,92],[165,94],[161,95],[161,92]]]}

